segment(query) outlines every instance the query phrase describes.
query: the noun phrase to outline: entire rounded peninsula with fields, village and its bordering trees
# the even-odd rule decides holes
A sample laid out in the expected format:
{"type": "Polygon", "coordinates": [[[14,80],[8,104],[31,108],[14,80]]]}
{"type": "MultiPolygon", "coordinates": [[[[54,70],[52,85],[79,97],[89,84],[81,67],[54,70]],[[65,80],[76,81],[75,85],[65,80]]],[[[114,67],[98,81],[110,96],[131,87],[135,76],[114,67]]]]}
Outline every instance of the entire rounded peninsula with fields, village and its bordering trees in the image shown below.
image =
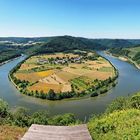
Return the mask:
{"type": "Polygon", "coordinates": [[[23,94],[60,100],[107,92],[116,84],[117,71],[97,53],[77,50],[31,56],[11,71],[10,78],[23,94]]]}

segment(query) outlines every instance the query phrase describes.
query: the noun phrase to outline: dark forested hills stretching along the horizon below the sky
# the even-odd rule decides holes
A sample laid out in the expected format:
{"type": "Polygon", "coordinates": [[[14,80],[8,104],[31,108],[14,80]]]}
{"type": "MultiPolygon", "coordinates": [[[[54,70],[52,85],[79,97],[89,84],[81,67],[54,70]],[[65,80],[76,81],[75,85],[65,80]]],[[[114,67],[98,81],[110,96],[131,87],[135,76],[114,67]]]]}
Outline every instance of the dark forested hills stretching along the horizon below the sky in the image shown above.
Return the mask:
{"type": "Polygon", "coordinates": [[[131,47],[137,44],[140,44],[140,40],[87,39],[72,36],[38,38],[5,37],[0,38],[0,62],[14,58],[21,53],[31,55],[73,49],[103,50],[114,47],[131,47]]]}

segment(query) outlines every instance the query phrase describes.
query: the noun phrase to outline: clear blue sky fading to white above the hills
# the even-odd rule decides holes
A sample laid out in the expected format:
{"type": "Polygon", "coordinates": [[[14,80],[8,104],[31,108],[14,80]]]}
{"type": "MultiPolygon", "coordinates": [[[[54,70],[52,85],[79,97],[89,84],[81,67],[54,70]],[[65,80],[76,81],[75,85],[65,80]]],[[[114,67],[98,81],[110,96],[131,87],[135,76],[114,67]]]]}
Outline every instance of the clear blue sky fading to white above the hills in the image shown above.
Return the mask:
{"type": "Polygon", "coordinates": [[[1,37],[140,39],[140,0],[0,0],[1,37]]]}

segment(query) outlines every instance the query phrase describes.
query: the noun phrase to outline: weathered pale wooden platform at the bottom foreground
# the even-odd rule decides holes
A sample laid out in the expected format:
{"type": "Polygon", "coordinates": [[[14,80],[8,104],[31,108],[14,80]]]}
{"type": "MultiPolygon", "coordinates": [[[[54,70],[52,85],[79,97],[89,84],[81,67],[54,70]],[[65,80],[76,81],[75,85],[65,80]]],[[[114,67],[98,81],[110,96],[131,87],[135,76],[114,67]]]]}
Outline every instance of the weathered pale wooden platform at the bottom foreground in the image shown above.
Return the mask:
{"type": "Polygon", "coordinates": [[[21,140],[92,140],[86,125],[49,126],[33,124],[21,140]]]}

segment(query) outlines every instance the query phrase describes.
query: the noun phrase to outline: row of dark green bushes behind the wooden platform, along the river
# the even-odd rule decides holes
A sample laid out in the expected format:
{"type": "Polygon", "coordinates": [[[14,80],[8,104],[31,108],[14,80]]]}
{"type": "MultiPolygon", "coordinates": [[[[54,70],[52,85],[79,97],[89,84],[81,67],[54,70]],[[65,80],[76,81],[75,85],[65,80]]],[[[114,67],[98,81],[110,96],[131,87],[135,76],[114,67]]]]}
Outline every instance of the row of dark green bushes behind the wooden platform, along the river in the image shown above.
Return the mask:
{"type": "Polygon", "coordinates": [[[8,104],[0,99],[0,125],[29,127],[32,124],[61,126],[81,123],[74,114],[70,113],[50,116],[47,111],[38,111],[31,115],[29,114],[29,110],[22,107],[17,108],[16,111],[11,111],[8,104]]]}

